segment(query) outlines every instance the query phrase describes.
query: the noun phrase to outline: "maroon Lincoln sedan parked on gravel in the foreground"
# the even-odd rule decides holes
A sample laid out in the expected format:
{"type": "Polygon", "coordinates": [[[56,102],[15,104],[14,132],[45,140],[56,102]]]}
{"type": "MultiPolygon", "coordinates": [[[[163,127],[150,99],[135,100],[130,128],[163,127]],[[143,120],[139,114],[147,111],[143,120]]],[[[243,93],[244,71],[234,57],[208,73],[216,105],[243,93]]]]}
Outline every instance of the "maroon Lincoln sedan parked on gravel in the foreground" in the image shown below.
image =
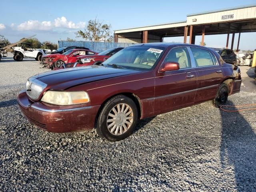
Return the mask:
{"type": "Polygon", "coordinates": [[[133,132],[138,119],[208,100],[220,107],[240,85],[239,68],[210,48],[149,43],[124,48],[101,66],[32,76],[18,104],[30,122],[49,132],[96,128],[117,141],[133,132]]]}

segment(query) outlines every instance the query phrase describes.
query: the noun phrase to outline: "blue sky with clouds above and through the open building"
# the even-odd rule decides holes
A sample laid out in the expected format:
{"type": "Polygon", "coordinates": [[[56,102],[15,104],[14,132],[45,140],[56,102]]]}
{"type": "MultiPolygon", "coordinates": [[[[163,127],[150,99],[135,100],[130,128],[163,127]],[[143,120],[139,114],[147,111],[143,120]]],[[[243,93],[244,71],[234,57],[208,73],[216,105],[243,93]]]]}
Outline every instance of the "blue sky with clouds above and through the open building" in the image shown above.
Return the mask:
{"type": "MultiPolygon", "coordinates": [[[[67,37],[76,40],[75,32],[85,28],[88,20],[96,16],[100,21],[112,25],[112,30],[160,24],[186,20],[191,13],[242,6],[256,3],[255,0],[20,0],[5,1],[1,8],[0,34],[11,42],[20,40],[32,34],[37,34],[41,42],[67,37]],[[41,3],[40,3],[41,2],[41,3]]],[[[254,50],[256,48],[256,33],[243,33],[240,37],[240,49],[254,50]]],[[[235,36],[236,47],[238,34],[235,36]]],[[[200,36],[196,37],[199,44],[200,36]]],[[[183,42],[183,37],[165,38],[166,42],[183,42]]],[[[225,35],[205,36],[206,46],[224,47],[225,35]]],[[[231,41],[231,38],[230,38],[231,41]]],[[[231,44],[231,42],[230,42],[231,44]]]]}

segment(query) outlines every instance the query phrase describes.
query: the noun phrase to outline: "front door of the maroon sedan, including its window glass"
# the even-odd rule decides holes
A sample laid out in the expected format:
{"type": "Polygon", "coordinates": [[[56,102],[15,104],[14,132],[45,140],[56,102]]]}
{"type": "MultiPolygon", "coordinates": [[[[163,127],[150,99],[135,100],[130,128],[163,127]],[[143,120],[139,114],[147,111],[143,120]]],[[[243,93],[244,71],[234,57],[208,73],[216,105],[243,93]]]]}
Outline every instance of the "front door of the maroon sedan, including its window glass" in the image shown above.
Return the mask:
{"type": "Polygon", "coordinates": [[[172,48],[164,62],[178,62],[180,69],[156,74],[154,115],[190,106],[196,95],[197,74],[188,48],[172,48]]]}

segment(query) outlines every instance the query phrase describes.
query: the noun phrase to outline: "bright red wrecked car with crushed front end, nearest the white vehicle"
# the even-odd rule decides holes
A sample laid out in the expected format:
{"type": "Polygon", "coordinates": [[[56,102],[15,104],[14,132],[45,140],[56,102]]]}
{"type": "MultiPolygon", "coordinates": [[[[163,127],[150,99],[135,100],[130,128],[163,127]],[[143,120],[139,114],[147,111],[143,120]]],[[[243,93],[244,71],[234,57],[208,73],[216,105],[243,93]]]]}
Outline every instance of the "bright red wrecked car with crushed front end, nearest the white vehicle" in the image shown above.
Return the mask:
{"type": "Polygon", "coordinates": [[[63,54],[48,54],[42,56],[42,64],[48,68],[60,68],[63,64],[76,62],[79,56],[96,55],[98,53],[85,49],[71,49],[63,54]]]}

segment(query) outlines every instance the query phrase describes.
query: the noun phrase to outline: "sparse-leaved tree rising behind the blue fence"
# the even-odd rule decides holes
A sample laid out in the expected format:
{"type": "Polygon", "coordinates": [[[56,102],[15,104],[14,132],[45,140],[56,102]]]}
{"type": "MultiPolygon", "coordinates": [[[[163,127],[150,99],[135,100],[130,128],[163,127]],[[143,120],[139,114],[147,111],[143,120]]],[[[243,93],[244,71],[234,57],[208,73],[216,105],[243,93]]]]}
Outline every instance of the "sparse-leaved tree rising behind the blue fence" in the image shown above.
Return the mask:
{"type": "Polygon", "coordinates": [[[103,24],[103,22],[99,22],[97,18],[94,20],[90,20],[84,32],[79,30],[76,32],[76,37],[82,37],[86,40],[90,41],[105,41],[112,42],[113,36],[110,35],[111,25],[103,24]]]}

